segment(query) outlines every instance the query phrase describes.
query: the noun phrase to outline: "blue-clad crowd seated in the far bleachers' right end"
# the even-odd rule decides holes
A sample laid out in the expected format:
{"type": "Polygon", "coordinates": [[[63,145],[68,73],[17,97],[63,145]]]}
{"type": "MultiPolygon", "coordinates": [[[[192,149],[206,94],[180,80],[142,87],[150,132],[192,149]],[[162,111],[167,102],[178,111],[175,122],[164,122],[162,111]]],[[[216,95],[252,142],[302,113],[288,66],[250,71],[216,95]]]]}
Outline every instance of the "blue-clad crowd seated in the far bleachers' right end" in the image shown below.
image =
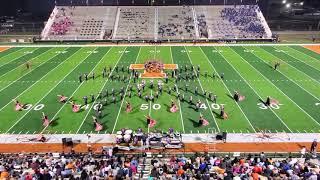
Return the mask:
{"type": "Polygon", "coordinates": [[[229,7],[221,11],[221,17],[249,35],[263,36],[265,29],[258,17],[257,11],[259,11],[259,8],[254,5],[229,7]]]}

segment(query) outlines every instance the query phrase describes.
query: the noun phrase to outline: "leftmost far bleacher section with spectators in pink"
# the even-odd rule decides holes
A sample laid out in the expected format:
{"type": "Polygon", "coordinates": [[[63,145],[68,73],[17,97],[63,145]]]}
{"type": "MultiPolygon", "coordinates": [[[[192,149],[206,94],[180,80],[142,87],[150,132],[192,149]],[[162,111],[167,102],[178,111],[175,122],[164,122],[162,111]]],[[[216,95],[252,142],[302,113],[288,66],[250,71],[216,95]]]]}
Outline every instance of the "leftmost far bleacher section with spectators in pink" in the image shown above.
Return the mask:
{"type": "Polygon", "coordinates": [[[116,7],[57,6],[42,32],[42,39],[109,39],[116,12],[116,7]]]}

